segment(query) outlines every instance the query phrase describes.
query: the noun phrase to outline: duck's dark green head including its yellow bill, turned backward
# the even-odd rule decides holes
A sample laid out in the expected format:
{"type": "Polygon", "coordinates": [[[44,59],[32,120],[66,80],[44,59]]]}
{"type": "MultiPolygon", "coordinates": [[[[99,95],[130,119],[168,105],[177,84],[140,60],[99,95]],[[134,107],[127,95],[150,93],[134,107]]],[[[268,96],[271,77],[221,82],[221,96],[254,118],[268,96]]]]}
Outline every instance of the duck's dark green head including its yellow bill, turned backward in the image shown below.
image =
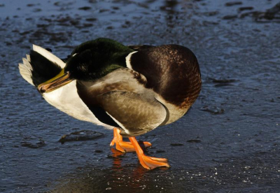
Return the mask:
{"type": "Polygon", "coordinates": [[[66,66],[54,78],[38,85],[40,92],[51,92],[72,80],[92,81],[111,71],[125,67],[125,57],[133,52],[117,41],[98,38],[79,45],[66,61],[66,66]]]}

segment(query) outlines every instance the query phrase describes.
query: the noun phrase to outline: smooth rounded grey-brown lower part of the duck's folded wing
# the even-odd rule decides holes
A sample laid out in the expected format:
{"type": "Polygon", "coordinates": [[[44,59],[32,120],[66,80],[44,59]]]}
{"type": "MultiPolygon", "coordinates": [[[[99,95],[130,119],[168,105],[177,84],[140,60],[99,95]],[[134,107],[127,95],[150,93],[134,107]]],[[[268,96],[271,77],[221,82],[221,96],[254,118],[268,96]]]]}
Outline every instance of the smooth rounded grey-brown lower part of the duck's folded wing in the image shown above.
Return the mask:
{"type": "Polygon", "coordinates": [[[113,91],[100,94],[97,100],[127,136],[145,134],[162,124],[167,117],[165,107],[144,94],[113,91]]]}

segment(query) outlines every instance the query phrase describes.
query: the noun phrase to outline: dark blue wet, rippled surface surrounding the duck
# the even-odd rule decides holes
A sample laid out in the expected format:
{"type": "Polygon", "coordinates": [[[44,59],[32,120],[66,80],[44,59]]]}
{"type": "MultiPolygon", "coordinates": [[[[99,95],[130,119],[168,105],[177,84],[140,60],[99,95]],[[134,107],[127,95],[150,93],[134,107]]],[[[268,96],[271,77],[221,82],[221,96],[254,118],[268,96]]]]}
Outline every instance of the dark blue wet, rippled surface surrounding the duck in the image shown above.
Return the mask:
{"type": "Polygon", "coordinates": [[[265,13],[279,1],[229,2],[0,1],[0,192],[279,192],[280,14],[265,13]],[[147,171],[134,153],[113,152],[112,131],[52,108],[20,77],[32,43],[66,57],[98,37],[197,55],[193,108],[139,137],[171,169],[147,171]],[[59,143],[80,130],[104,136],[59,143]]]}

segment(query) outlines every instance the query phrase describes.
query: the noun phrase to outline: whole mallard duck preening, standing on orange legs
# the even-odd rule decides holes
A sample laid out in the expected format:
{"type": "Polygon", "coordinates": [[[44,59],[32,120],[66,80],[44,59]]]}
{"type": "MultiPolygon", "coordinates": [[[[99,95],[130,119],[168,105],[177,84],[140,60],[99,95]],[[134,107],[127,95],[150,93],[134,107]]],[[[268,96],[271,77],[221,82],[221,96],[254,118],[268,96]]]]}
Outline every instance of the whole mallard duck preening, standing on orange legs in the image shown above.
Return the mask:
{"type": "Polygon", "coordinates": [[[110,145],[136,151],[146,169],[169,164],[144,155],[135,136],[181,118],[202,86],[195,55],[181,45],[125,46],[97,38],[78,45],[66,59],[33,45],[22,61],[22,78],[45,101],[78,120],[113,129],[110,145]]]}

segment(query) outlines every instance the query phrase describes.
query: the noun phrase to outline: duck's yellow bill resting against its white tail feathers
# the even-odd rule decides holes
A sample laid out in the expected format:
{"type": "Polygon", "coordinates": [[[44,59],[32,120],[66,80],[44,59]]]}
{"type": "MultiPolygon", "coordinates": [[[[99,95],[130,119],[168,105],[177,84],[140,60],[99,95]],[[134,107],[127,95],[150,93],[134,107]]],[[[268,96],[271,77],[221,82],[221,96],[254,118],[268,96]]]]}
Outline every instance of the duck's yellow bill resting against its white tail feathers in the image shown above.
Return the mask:
{"type": "Polygon", "coordinates": [[[52,92],[53,90],[70,83],[73,79],[69,78],[69,75],[70,74],[68,72],[64,73],[64,69],[62,69],[62,71],[57,74],[57,76],[46,81],[45,83],[38,85],[38,91],[41,93],[52,92]]]}

